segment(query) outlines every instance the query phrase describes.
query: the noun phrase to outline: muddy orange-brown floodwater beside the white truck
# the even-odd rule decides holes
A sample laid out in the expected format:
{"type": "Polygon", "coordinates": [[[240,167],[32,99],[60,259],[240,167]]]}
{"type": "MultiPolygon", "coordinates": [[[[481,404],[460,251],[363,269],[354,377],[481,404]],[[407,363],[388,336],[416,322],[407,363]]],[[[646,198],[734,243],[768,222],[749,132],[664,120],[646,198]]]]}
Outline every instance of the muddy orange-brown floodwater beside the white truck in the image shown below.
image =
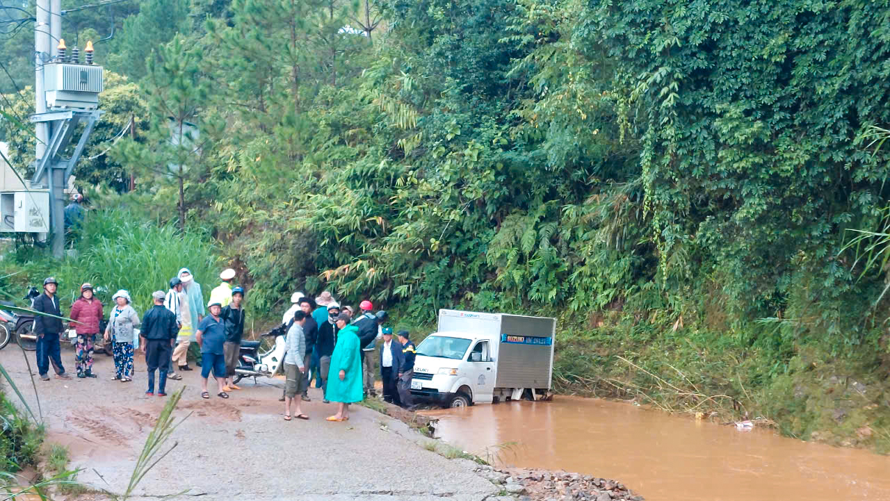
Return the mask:
{"type": "Polygon", "coordinates": [[[890,500],[890,457],[626,403],[557,396],[425,414],[437,437],[481,457],[616,479],[649,501],[890,500]]]}

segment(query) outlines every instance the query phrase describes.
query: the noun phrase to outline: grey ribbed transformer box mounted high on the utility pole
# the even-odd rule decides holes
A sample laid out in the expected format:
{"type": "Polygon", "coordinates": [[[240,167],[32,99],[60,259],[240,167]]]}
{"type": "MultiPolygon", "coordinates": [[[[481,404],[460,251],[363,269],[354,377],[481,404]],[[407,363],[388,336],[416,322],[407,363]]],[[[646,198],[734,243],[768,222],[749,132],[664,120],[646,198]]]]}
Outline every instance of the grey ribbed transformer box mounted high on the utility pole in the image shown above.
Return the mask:
{"type": "Polygon", "coordinates": [[[102,67],[68,62],[46,64],[44,90],[50,109],[97,109],[102,67]]]}

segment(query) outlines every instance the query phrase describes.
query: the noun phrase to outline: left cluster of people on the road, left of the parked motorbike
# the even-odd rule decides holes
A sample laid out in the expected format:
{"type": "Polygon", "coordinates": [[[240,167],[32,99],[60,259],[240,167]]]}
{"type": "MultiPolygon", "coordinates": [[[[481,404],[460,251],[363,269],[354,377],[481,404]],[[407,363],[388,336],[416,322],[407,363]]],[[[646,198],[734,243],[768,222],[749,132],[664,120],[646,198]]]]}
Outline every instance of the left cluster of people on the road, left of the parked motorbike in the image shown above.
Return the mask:
{"type": "MultiPolygon", "coordinates": [[[[228,392],[240,388],[233,384],[239,344],[244,333],[244,289],[231,287],[235,271],[228,269],[220,274],[222,284],[214,288],[207,309],[201,286],[188,268],[182,268],[170,279],[170,289],[152,293],[153,305],[142,319],[134,309],[130,293],[118,290],[112,296],[115,302],[107,327],[101,333],[105,350],[114,356],[113,380],[122,383],[133,381],[134,344],[139,343],[145,354],[149,384],[146,394],[155,395],[155,373],[158,372],[158,396],[166,396],[167,378],[181,380],[174,371],[174,364],[181,371],[192,370],[188,354],[192,342],[198,350],[193,357],[201,364],[201,396],[210,398],[207,379],[210,372],[219,384],[218,396],[227,399],[228,392]],[[206,312],[209,311],[209,315],[206,312]],[[137,329],[139,334],[136,335],[137,329]],[[201,362],[204,363],[201,363],[201,362]]],[[[37,372],[44,381],[49,380],[52,363],[59,379],[71,379],[61,361],[61,335],[64,331],[61,305],[56,295],[58,281],[44,279],[44,292],[34,300],[34,310],[51,316],[36,315],[34,333],[37,336],[37,372]]],[[[77,335],[75,343],[75,367],[77,377],[96,377],[93,373],[93,348],[104,318],[104,307],[93,294],[93,286],[85,283],[80,287],[80,297],[71,305],[69,327],[77,335]]]]}

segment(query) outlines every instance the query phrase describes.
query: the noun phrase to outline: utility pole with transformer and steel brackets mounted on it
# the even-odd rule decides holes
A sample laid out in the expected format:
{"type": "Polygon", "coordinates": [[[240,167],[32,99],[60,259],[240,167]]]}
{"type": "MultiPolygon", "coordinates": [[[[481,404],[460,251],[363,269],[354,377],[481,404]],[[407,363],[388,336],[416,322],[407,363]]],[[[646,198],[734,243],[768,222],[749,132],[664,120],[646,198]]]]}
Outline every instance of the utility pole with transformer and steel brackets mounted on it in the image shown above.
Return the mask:
{"type": "Polygon", "coordinates": [[[87,42],[86,63],[77,47],[67,56],[61,37],[61,0],[36,0],[34,25],[36,149],[33,183],[49,189],[49,230],[55,257],[65,252],[65,195],[69,176],[86,140],[101,116],[102,69],[93,65],[93,44],[87,42]],[[71,158],[61,158],[74,129],[85,121],[71,158]]]}

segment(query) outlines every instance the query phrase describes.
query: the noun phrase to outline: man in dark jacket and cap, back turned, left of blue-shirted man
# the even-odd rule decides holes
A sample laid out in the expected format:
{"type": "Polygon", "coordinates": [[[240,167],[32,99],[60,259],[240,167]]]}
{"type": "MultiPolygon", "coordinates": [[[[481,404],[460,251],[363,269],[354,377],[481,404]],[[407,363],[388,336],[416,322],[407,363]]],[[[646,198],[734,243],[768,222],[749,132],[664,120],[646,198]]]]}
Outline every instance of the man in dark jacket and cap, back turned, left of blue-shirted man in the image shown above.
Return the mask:
{"type": "Polygon", "coordinates": [[[170,357],[176,335],[179,334],[179,323],[176,314],[164,306],[164,291],[155,291],[151,297],[155,305],[142,317],[142,346],[145,352],[145,365],[149,369],[149,391],[146,395],[155,394],[155,371],[158,375],[158,397],[166,397],[166,375],[170,370],[170,357]]]}

